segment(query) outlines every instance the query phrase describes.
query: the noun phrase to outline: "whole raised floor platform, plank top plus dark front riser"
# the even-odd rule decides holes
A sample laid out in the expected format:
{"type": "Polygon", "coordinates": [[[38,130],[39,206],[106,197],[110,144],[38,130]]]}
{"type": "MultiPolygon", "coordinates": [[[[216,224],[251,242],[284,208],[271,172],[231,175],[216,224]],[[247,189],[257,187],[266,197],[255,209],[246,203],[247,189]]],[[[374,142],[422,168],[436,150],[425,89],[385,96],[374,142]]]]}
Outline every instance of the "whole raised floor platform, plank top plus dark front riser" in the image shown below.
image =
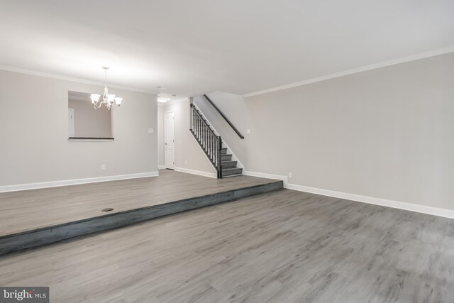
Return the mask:
{"type": "Polygon", "coordinates": [[[0,255],[282,187],[258,177],[160,170],[159,177],[0,193],[0,255]]]}

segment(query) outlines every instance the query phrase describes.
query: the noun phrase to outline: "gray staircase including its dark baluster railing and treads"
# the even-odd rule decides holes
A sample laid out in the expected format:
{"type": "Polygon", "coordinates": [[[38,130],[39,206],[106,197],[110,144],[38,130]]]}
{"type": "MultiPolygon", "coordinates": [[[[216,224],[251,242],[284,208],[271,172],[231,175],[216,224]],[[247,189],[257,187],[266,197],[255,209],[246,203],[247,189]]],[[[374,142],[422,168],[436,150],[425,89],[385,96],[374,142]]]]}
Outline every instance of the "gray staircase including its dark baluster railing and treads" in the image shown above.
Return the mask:
{"type": "Polygon", "coordinates": [[[232,160],[232,154],[223,146],[221,136],[216,134],[195,104],[191,104],[189,130],[216,169],[218,178],[242,175],[243,168],[238,167],[238,161],[232,160]]]}

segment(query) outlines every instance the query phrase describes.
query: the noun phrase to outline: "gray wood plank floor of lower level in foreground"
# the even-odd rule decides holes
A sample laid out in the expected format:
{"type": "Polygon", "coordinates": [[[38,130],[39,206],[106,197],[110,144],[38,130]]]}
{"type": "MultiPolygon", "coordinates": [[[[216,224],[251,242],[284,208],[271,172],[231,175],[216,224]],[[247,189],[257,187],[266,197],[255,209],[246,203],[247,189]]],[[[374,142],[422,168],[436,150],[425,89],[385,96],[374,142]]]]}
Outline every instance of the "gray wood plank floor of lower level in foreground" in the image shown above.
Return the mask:
{"type": "Polygon", "coordinates": [[[284,189],[0,258],[51,302],[454,302],[454,220],[284,189]]]}

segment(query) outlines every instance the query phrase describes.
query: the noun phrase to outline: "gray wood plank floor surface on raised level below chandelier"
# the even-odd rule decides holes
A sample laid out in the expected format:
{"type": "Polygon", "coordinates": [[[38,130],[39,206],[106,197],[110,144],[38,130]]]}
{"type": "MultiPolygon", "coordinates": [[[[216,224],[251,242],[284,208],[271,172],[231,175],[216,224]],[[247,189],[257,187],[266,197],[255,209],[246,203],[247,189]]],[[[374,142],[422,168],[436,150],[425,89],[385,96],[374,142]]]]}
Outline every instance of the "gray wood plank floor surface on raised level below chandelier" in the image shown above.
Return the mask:
{"type": "Polygon", "coordinates": [[[258,177],[213,179],[172,170],[159,177],[0,193],[0,236],[164,204],[231,189],[266,184],[258,177]]]}

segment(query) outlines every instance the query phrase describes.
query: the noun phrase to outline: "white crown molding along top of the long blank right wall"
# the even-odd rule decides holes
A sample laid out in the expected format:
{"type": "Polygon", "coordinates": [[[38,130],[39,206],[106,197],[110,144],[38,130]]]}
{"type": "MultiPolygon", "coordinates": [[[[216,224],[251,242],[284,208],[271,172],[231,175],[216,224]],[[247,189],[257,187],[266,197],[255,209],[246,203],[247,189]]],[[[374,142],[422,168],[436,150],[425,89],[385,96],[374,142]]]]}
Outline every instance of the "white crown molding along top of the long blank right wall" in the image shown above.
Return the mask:
{"type": "Polygon", "coordinates": [[[371,65],[365,65],[365,66],[362,66],[362,67],[353,68],[351,70],[344,70],[343,72],[335,72],[335,73],[330,74],[330,75],[324,75],[324,76],[321,76],[321,77],[315,77],[315,78],[306,79],[306,80],[299,81],[299,82],[285,84],[285,85],[281,85],[279,87],[272,87],[270,89],[262,89],[262,90],[260,90],[258,92],[250,92],[248,94],[243,94],[243,97],[245,97],[245,98],[253,97],[253,96],[257,96],[259,94],[267,94],[267,93],[270,93],[270,92],[277,92],[277,91],[282,90],[282,89],[290,89],[292,87],[301,87],[301,86],[306,85],[306,84],[311,84],[311,83],[325,81],[325,80],[328,80],[328,79],[334,79],[334,78],[338,78],[338,77],[343,77],[343,76],[357,74],[358,72],[366,72],[367,70],[376,70],[377,68],[381,68],[381,67],[387,67],[387,66],[391,66],[391,65],[398,65],[398,64],[401,64],[401,63],[405,63],[405,62],[421,60],[421,59],[424,59],[424,58],[435,57],[435,56],[438,56],[438,55],[444,55],[444,54],[453,53],[453,52],[454,52],[454,45],[448,46],[447,48],[439,48],[438,50],[431,50],[431,51],[428,51],[428,52],[425,52],[425,53],[419,53],[419,54],[416,54],[416,55],[409,55],[409,56],[406,56],[406,57],[399,57],[397,59],[388,60],[388,61],[375,63],[375,64],[371,64],[371,65]]]}

